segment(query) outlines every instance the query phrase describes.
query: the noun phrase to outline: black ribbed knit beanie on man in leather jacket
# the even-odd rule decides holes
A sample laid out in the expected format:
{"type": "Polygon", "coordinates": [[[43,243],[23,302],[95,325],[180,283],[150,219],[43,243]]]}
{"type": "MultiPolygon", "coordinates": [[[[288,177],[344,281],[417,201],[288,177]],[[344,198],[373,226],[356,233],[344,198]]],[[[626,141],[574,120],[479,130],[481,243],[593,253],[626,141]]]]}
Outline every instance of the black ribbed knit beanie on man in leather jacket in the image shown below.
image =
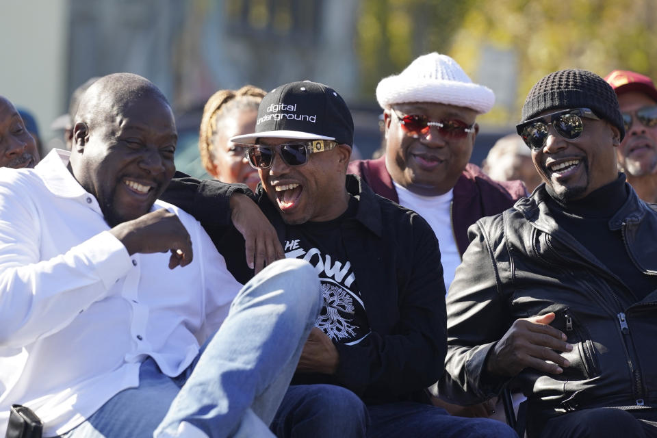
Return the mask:
{"type": "Polygon", "coordinates": [[[536,83],[522,106],[522,122],[545,110],[591,108],[595,115],[618,128],[625,137],[623,116],[613,88],[602,77],[587,70],[569,68],[550,73],[536,83]]]}

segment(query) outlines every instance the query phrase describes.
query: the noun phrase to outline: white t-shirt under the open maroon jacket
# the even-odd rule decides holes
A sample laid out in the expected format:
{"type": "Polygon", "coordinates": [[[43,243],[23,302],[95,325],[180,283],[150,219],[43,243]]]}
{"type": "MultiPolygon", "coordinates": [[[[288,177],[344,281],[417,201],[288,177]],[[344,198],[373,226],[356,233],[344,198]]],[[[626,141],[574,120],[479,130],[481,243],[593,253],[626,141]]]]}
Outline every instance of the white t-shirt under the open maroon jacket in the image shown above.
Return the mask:
{"type": "Polygon", "coordinates": [[[452,229],[452,190],[439,196],[422,196],[415,194],[393,181],[399,205],[409,208],[420,214],[438,238],[440,244],[440,261],[443,265],[443,278],[445,279],[445,290],[450,289],[450,284],[454,281],[454,272],[456,266],[461,264],[461,254],[454,240],[454,231],[452,229]]]}

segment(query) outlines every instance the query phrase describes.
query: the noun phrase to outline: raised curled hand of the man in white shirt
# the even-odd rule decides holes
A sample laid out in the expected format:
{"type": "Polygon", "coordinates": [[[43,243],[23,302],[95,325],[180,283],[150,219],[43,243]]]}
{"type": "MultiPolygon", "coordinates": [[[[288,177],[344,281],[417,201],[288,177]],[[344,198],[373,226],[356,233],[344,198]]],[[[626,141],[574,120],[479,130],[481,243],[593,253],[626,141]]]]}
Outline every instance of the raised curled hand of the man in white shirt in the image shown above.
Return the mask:
{"type": "Polygon", "coordinates": [[[171,251],[169,269],[192,262],[192,239],[177,215],[157,209],[128,220],[110,230],[123,243],[129,255],[171,251]]]}

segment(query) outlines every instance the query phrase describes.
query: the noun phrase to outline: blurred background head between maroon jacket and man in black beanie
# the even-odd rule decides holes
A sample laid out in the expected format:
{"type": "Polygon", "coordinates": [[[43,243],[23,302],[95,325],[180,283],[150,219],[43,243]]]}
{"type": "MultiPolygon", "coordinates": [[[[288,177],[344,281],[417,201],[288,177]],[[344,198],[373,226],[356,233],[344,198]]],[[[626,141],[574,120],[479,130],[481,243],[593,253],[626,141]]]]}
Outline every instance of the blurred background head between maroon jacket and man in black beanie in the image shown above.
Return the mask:
{"type": "Polygon", "coordinates": [[[495,181],[519,179],[528,192],[533,192],[541,183],[532,153],[517,133],[508,134],[493,144],[482,163],[482,170],[495,181]]]}

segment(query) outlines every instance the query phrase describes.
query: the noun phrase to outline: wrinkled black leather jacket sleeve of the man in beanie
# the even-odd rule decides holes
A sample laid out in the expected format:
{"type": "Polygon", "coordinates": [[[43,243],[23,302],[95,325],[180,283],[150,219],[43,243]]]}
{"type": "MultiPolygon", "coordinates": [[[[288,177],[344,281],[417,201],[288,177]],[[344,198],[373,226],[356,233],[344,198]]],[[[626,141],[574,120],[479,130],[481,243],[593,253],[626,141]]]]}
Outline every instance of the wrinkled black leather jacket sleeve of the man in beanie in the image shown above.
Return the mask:
{"type": "Polygon", "coordinates": [[[447,297],[448,354],[439,391],[441,398],[459,404],[498,395],[510,380],[485,371],[488,355],[509,326],[501,278],[509,272],[502,218],[470,227],[470,244],[447,297]]]}

